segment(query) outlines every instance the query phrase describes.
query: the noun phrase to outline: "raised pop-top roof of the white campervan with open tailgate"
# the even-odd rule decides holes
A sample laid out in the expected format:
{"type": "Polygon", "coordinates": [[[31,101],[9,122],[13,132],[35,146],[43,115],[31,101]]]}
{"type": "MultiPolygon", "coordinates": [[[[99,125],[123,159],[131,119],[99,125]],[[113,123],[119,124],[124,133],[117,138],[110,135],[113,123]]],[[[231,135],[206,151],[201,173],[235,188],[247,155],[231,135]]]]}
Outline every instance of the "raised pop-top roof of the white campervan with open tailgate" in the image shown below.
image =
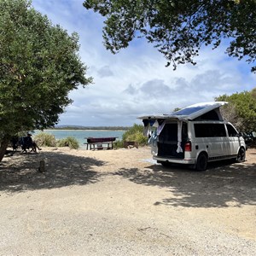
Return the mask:
{"type": "Polygon", "coordinates": [[[219,108],[228,102],[201,102],[182,108],[173,113],[153,114],[138,117],[138,119],[178,119],[178,120],[220,120],[223,118],[219,108]]]}

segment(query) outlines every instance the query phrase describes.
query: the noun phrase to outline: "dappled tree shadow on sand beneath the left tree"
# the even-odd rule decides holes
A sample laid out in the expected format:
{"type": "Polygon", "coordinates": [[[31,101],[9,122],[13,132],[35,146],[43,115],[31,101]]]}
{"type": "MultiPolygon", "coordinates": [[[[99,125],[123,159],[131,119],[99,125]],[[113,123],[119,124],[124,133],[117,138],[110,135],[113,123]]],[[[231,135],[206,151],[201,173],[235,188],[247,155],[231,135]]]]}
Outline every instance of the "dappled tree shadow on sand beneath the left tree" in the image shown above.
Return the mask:
{"type": "Polygon", "coordinates": [[[3,159],[0,163],[0,191],[55,189],[96,183],[100,174],[93,171],[93,166],[104,165],[101,160],[57,151],[40,154],[17,152],[11,158],[11,161],[3,159]],[[38,172],[40,160],[45,161],[46,172],[38,172]]]}

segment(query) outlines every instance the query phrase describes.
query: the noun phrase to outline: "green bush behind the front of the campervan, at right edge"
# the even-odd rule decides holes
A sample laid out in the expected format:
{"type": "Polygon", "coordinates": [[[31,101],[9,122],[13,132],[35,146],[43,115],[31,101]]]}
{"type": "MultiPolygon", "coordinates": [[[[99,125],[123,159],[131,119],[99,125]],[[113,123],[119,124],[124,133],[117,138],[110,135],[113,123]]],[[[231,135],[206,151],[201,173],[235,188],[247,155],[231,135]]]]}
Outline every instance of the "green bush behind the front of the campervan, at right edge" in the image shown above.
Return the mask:
{"type": "Polygon", "coordinates": [[[256,131],[255,90],[235,93],[231,96],[218,96],[216,101],[229,102],[224,106],[224,118],[236,125],[240,131],[256,131]],[[231,113],[231,114],[230,114],[231,113]],[[229,116],[229,118],[227,118],[229,116]]]}

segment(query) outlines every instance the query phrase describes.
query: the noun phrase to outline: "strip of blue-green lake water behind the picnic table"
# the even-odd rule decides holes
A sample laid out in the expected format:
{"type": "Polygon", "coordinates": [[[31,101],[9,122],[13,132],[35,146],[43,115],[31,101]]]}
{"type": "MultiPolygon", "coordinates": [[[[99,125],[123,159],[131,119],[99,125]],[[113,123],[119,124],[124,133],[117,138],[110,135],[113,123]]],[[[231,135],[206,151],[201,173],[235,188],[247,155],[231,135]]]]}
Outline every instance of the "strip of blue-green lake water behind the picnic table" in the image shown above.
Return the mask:
{"type": "MultiPolygon", "coordinates": [[[[34,135],[40,132],[37,130],[34,135]]],[[[117,137],[116,140],[121,140],[125,131],[45,130],[44,132],[53,135],[57,140],[65,137],[75,137],[79,142],[79,146],[85,148],[86,137],[117,137]]]]}

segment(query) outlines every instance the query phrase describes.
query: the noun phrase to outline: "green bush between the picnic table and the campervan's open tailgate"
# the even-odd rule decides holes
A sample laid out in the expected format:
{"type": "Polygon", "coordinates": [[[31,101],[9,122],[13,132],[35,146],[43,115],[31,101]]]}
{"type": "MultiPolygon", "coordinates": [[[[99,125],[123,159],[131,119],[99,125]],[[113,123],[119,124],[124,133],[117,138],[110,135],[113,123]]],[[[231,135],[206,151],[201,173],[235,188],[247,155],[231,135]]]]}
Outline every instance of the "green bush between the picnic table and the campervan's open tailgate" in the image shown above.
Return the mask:
{"type": "Polygon", "coordinates": [[[134,124],[128,131],[123,134],[123,142],[135,141],[140,146],[148,143],[148,138],[143,135],[143,125],[134,124]]]}

